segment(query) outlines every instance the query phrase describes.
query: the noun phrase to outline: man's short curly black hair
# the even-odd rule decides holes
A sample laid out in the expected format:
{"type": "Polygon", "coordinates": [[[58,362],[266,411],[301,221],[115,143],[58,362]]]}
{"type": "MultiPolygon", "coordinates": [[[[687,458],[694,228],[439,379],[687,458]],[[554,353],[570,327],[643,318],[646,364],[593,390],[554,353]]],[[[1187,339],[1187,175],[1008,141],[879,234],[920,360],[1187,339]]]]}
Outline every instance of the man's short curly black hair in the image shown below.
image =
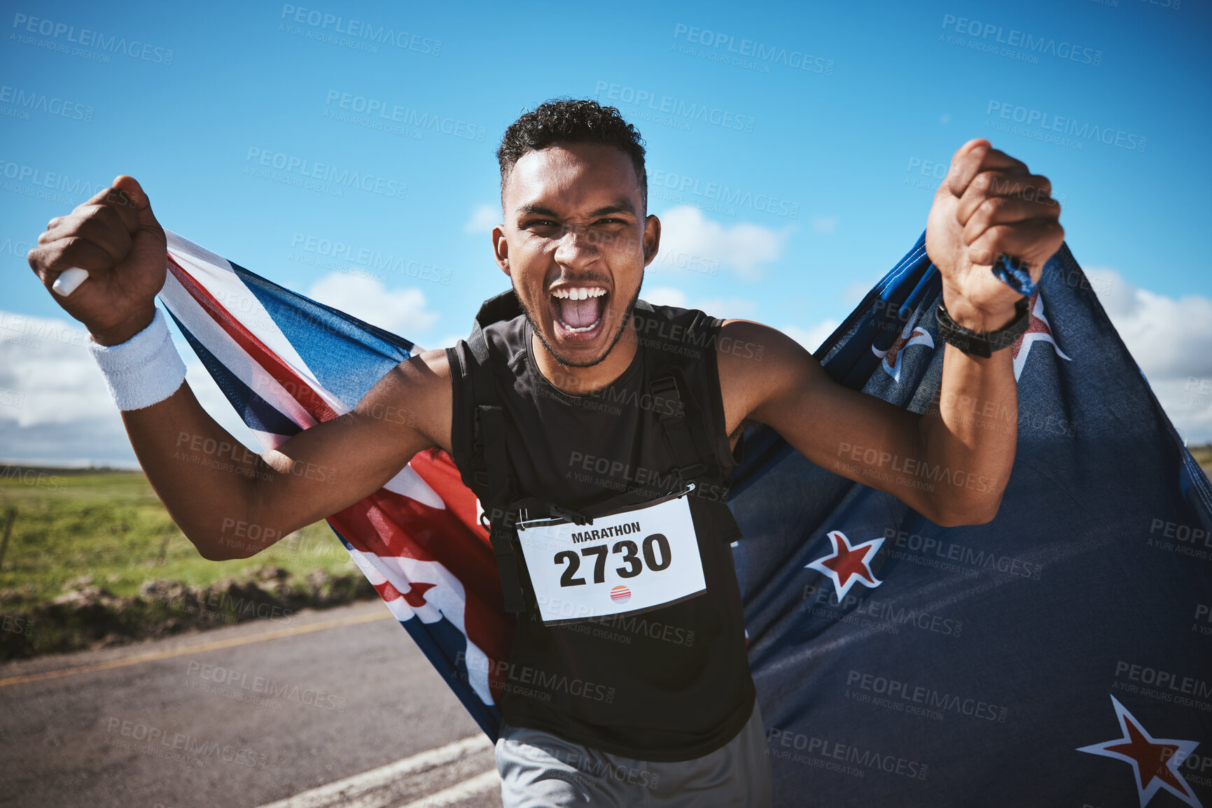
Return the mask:
{"type": "Polygon", "coordinates": [[[648,207],[648,173],[639,130],[623,120],[614,107],[602,107],[590,98],[553,98],[509,125],[497,148],[502,190],[524,154],[555,143],[605,143],[622,149],[631,157],[644,207],[648,207]]]}

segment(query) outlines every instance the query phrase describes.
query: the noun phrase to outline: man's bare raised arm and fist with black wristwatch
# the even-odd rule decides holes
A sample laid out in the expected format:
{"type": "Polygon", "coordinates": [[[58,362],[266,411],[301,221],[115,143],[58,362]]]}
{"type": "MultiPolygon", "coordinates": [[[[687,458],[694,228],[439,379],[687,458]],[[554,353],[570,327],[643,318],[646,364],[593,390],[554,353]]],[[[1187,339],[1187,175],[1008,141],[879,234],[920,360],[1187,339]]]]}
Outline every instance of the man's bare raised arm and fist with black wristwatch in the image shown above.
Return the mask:
{"type": "MultiPolygon", "coordinates": [[[[990,332],[1016,320],[1022,296],[997,280],[991,265],[1000,254],[1014,256],[1039,281],[1064,241],[1050,194],[1046,177],[1030,174],[988,141],[970,141],[955,153],[934,196],[926,250],[959,326],[990,332]]],[[[1008,350],[982,359],[948,344],[936,405],[917,416],[835,383],[773,328],[730,320],[721,344],[725,336],[728,344],[764,346],[761,362],[718,351],[730,434],[745,418],[768,424],[817,465],[887,492],[938,525],[979,525],[996,516],[1018,435],[1008,350]],[[996,418],[973,418],[973,406],[996,418]]]]}

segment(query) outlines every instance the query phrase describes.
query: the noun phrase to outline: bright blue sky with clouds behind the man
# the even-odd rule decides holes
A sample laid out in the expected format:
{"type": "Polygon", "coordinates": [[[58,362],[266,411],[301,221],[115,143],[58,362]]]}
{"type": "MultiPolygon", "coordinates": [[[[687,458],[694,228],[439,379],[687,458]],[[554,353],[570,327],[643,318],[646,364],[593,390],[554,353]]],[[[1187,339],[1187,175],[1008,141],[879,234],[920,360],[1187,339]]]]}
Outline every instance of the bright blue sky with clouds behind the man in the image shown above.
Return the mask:
{"type": "MultiPolygon", "coordinates": [[[[166,228],[448,343],[508,283],[485,227],[502,131],[574,96],[618,105],[646,141],[668,240],[646,292],[819,342],[920,234],[951,153],[989,137],[1052,179],[1068,243],[1171,417],[1212,440],[1202,4],[6,5],[10,316],[63,319],[24,252],[130,173],[166,228]],[[709,118],[679,114],[691,105],[709,118]],[[304,172],[378,188],[291,184],[304,172]],[[402,269],[377,270],[384,258],[402,269]]],[[[48,383],[12,369],[39,350],[0,342],[0,403],[24,395],[0,407],[0,458],[128,462],[114,413],[91,428],[108,437],[81,426],[75,454],[47,448],[48,383]]]]}

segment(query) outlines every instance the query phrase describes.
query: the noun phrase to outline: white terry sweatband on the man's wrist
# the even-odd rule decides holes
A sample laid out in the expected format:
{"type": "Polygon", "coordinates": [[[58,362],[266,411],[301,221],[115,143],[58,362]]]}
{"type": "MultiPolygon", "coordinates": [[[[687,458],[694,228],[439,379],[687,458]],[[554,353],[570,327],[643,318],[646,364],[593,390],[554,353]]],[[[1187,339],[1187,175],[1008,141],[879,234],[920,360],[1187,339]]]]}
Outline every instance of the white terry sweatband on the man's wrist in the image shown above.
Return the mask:
{"type": "Polygon", "coordinates": [[[160,309],[152,323],[125,343],[87,342],[119,409],[142,409],[164,401],[185,380],[185,363],[172,344],[160,309]]]}

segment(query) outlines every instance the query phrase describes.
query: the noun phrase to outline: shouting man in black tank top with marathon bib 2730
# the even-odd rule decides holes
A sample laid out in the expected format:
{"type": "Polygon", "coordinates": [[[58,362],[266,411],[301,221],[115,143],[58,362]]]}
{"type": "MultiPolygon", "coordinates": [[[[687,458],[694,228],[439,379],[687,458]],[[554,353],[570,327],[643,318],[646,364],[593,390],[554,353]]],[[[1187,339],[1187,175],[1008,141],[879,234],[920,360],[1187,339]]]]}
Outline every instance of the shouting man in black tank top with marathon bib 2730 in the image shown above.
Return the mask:
{"type": "Polygon", "coordinates": [[[119,177],[52,219],[29,253],[47,287],[69,268],[91,273],[57,299],[92,334],[143,469],[207,558],[273,543],[233,546],[224,518],[285,535],[377,491],[422,449],[453,457],[492,521],[507,604],[522,611],[509,663],[533,687],[501,694],[508,806],[768,803],[724,505],[743,424],[768,424],[822,465],[842,442],[868,447],[869,463],[842,474],[938,525],[990,521],[1016,436],[978,429],[954,402],[1014,419],[999,349],[1025,314],[990,268],[1013,256],[1037,280],[1064,237],[1046,178],[987,141],[955,153],[926,239],[953,345],[938,409],[916,416],[835,384],[772,328],[639,300],[661,241],[644,154],[613,108],[559,101],[522,115],[498,150],[504,222],[492,231],[514,296],[486,304],[471,343],[401,362],[348,417],[235,471],[173,459],[182,431],[233,439],[170,355],[153,303],[165,236],[138,183],[119,177]],[[400,406],[415,424],[373,416],[400,406]],[[892,457],[965,474],[927,491],[882,474],[892,457]],[[320,465],[336,471],[299,472],[320,465]]]}

